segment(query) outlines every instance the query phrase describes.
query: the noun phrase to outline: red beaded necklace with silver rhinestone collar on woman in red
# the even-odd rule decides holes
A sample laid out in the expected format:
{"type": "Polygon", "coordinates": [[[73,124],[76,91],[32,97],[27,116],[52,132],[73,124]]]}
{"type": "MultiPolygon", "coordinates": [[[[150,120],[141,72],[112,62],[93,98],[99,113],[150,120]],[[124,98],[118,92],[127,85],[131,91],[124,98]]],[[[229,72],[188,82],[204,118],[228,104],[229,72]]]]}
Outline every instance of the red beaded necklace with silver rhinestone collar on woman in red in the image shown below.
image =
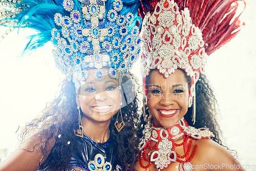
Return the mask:
{"type": "Polygon", "coordinates": [[[160,171],[168,167],[173,162],[179,162],[179,170],[191,171],[192,164],[190,161],[194,158],[197,151],[197,144],[193,149],[192,155],[189,157],[191,151],[192,139],[199,140],[201,138],[209,138],[212,133],[207,128],[196,129],[195,127],[188,126],[187,122],[182,118],[172,128],[164,129],[163,127],[155,127],[152,125],[151,129],[145,134],[141,140],[140,148],[140,166],[142,168],[148,168],[154,163],[157,170],[160,171]],[[175,140],[179,137],[183,137],[182,143],[175,143],[175,140]],[[187,140],[189,140],[187,146],[187,140]],[[151,146],[150,142],[156,142],[156,145],[151,146]],[[175,147],[186,146],[186,152],[183,156],[175,152],[175,147]],[[147,155],[150,158],[146,158],[146,148],[150,151],[147,155]],[[154,151],[153,153],[151,151],[154,151]],[[184,159],[185,160],[181,160],[184,159]],[[142,160],[149,162],[146,166],[143,165],[142,160]]]}

